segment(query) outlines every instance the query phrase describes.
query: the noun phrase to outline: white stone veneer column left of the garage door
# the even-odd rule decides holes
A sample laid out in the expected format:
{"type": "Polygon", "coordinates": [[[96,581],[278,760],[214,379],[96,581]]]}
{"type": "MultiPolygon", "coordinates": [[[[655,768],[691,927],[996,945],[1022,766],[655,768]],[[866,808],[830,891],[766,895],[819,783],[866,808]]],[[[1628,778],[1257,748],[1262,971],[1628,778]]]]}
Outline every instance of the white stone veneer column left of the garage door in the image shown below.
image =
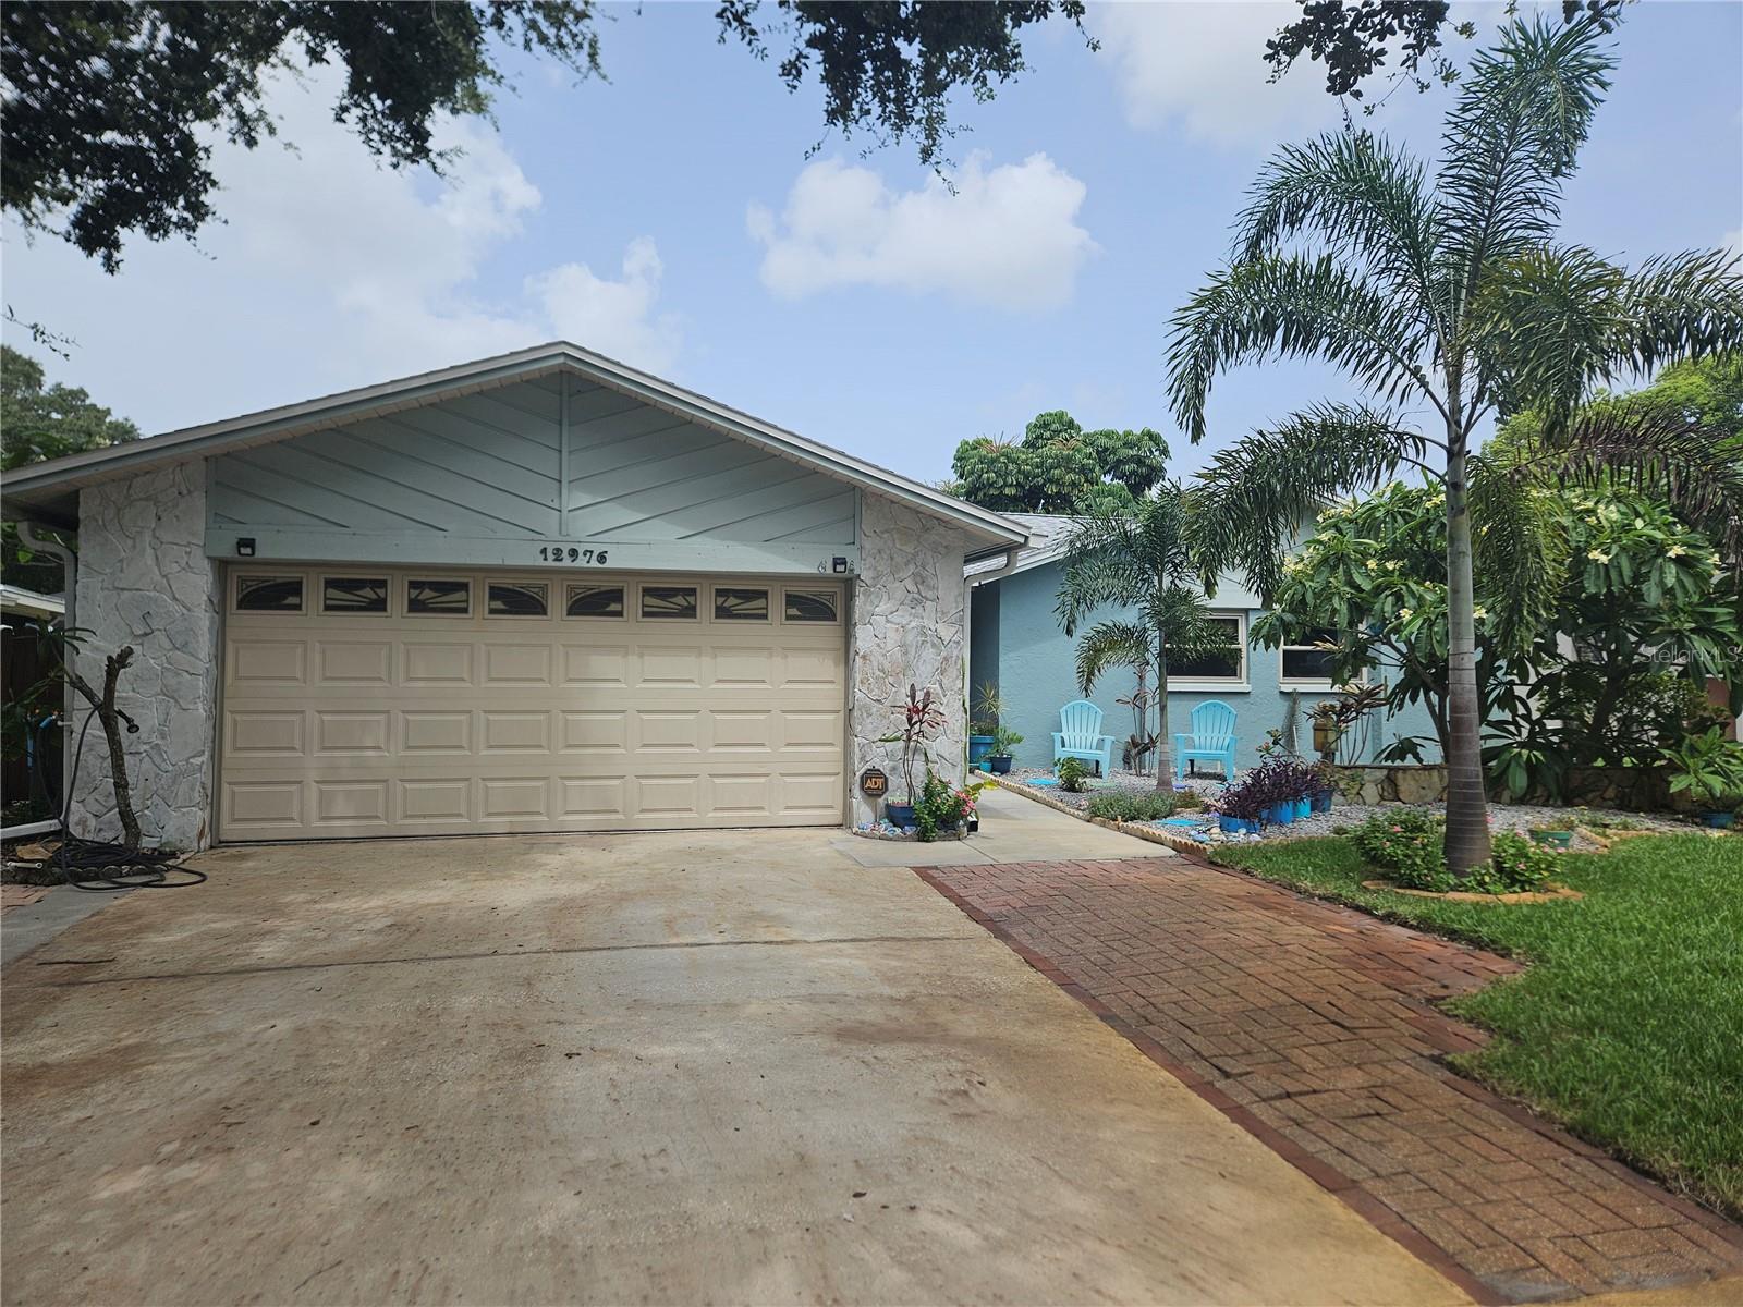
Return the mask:
{"type": "MultiPolygon", "coordinates": [[[[78,497],[78,671],[103,690],[103,660],[132,645],[115,704],[139,723],[124,735],[132,805],[146,845],[204,849],[211,843],[213,756],[218,706],[218,570],[206,558],[206,465],[202,462],[108,481],[78,497]]],[[[78,742],[87,704],[68,741],[78,742]]],[[[91,723],[71,830],[119,840],[103,727],[91,723]]]]}

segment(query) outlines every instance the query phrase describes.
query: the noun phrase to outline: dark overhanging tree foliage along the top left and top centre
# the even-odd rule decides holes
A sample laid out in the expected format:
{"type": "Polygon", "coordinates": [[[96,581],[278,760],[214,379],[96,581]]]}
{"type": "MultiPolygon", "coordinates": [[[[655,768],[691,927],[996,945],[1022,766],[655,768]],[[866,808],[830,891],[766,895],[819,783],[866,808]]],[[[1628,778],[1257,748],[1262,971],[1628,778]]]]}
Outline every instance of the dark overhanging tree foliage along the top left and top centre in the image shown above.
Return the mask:
{"type": "MultiPolygon", "coordinates": [[[[783,33],[781,78],[797,91],[817,70],[828,127],[913,138],[929,164],[952,132],[955,89],[987,101],[1023,71],[1021,28],[1053,14],[1082,26],[1081,0],[774,9],[779,17],[763,17],[760,0],[722,0],[720,40],[736,35],[767,56],[783,33]]],[[[593,0],[10,0],[0,9],[0,202],[115,272],[125,235],[193,235],[214,218],[211,141],[253,150],[275,134],[272,70],[343,64],[335,119],[390,166],[439,171],[437,117],[488,113],[504,51],[600,73],[593,0]]]]}

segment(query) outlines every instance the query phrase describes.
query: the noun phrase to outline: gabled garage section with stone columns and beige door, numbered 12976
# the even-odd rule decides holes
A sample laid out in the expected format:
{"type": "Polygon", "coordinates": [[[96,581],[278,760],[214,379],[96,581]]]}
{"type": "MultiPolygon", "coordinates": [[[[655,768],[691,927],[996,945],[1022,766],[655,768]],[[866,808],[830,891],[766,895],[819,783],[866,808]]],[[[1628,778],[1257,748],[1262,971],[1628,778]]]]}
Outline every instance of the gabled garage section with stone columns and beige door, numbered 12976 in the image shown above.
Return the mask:
{"type": "MultiPolygon", "coordinates": [[[[12,472],[146,835],[838,826],[1023,528],[570,343],[12,472]],[[849,669],[852,673],[849,674],[849,669]]],[[[89,749],[73,831],[117,826],[89,749]]]]}

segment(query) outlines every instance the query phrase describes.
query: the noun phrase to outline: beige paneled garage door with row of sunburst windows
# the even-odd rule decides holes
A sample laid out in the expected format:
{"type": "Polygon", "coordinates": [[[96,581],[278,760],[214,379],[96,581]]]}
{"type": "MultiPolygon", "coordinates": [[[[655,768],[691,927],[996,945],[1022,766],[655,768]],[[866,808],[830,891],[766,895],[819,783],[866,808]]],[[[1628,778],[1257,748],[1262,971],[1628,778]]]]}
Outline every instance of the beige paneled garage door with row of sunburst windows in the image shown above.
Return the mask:
{"type": "Polygon", "coordinates": [[[218,835],[823,826],[831,582],[232,566],[218,835]]]}

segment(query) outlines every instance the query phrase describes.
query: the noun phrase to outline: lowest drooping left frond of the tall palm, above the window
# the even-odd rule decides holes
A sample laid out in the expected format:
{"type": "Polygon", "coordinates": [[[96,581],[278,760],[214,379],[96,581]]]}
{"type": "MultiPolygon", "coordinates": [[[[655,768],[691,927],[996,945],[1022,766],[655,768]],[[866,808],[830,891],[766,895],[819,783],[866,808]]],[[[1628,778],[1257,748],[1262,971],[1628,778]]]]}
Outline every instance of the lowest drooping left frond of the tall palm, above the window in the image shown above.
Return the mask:
{"type": "Polygon", "coordinates": [[[1302,525],[1339,493],[1372,490],[1426,451],[1426,437],[1398,415],[1363,404],[1319,404],[1241,437],[1192,491],[1201,566],[1241,572],[1269,599],[1302,525]]]}

